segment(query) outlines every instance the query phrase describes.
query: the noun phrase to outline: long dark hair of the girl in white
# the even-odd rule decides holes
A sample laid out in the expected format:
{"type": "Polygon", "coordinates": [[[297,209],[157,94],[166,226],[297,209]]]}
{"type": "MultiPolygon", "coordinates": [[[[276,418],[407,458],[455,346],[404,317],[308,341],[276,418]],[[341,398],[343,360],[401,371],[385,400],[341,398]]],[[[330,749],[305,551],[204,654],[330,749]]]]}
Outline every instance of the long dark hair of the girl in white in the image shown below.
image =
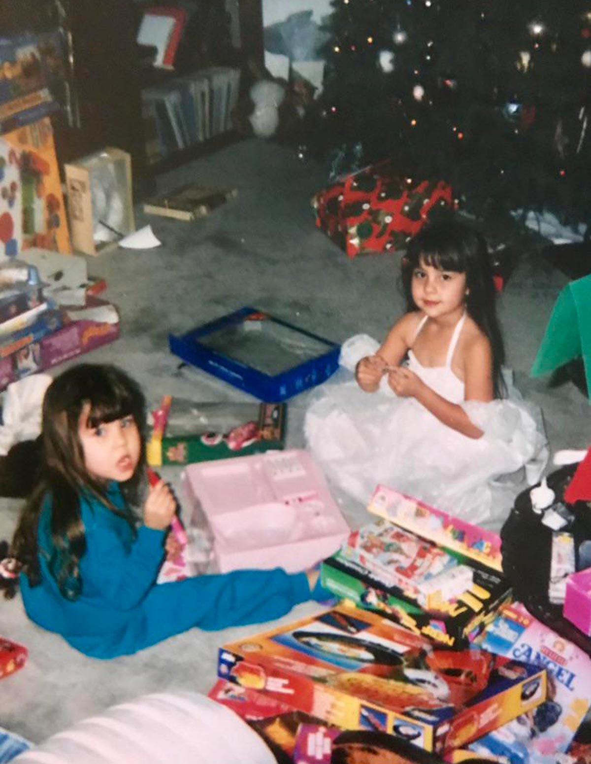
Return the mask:
{"type": "Polygon", "coordinates": [[[468,225],[445,220],[422,228],[409,242],[402,258],[402,286],[408,310],[417,310],[412,299],[412,274],[420,264],[466,274],[466,309],[489,339],[493,351],[493,386],[502,397],[502,364],[505,348],[496,316],[496,291],[488,248],[484,237],[468,225]]]}

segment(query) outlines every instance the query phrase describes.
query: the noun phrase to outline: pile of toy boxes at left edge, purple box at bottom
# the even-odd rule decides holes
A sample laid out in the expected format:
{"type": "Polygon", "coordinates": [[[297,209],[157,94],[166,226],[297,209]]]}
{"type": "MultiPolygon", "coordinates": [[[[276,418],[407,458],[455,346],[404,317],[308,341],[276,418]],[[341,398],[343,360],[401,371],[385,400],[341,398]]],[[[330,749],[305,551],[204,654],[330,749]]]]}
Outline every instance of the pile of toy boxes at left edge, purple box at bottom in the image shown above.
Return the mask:
{"type": "MultiPolygon", "coordinates": [[[[115,307],[96,296],[105,288],[104,281],[86,280],[69,290],[76,304],[58,304],[57,290],[40,277],[40,270],[47,269],[44,251],[35,252],[39,268],[24,261],[0,264],[0,390],[112,342],[119,334],[115,307]]],[[[56,257],[63,257],[63,271],[72,259],[47,254],[52,265],[56,257]]],[[[64,294],[60,292],[61,303],[64,294]]]]}

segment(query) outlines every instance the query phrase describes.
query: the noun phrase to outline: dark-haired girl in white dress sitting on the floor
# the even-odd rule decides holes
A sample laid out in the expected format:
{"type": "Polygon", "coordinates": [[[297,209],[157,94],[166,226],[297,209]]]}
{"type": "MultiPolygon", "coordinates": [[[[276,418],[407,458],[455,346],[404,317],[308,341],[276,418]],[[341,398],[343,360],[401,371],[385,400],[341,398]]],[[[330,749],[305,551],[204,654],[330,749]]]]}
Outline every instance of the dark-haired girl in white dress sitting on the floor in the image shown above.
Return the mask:
{"type": "Polygon", "coordinates": [[[523,478],[527,467],[536,481],[547,448],[531,407],[516,390],[503,397],[486,242],[459,222],[429,225],[402,259],[402,283],[409,312],[379,347],[367,335],[344,343],[341,365],[355,381],[319,389],[305,416],[308,446],[363,503],[382,483],[498,526],[517,490],[505,476],[523,478]]]}

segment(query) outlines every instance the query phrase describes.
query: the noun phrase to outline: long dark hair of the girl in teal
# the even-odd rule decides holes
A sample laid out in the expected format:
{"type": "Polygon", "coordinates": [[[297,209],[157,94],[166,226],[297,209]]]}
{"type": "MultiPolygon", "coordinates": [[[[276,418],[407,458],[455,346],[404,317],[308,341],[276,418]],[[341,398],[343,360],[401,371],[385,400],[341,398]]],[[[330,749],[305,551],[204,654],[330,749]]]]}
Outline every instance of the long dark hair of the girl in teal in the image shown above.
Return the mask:
{"type": "Polygon", "coordinates": [[[131,515],[122,513],[108,500],[106,485],[93,478],[84,464],[78,429],[86,406],[89,406],[88,424],[91,427],[124,416],[132,416],[137,424],[140,459],[130,480],[121,484],[128,503],[137,501],[146,465],[145,399],[140,387],[128,374],[108,364],[79,364],[53,380],[43,404],[39,479],[21,513],[12,539],[11,556],[18,561],[31,585],[38,584],[37,530],[44,500],[50,497],[50,533],[55,550],[50,570],[67,599],[75,599],[79,594],[79,562],[86,552],[80,494],[95,497],[133,526],[131,515]]]}

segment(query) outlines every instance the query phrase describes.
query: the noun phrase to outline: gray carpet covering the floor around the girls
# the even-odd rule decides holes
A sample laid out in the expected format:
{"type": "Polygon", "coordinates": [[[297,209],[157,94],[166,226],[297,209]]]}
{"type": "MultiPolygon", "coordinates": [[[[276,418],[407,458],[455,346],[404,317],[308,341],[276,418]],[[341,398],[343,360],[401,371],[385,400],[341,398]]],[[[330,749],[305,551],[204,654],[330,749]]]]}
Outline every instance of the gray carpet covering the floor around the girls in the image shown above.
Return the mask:
{"type": "MultiPolygon", "coordinates": [[[[230,184],[237,199],[199,222],[150,216],[163,246],[117,249],[89,258],[89,271],[108,281],[108,298],[121,311],[121,338],[87,356],[134,374],[151,401],[163,393],[194,400],[245,400],[232,387],[193,369],[179,371],[167,334],[183,332],[243,305],[342,341],[357,332],[382,338],[402,311],[399,255],[353,261],[314,225],[309,199],[325,185],[324,170],[288,149],[258,141],[235,144],[167,176],[159,190],[181,183],[230,184]]],[[[499,299],[508,365],[525,397],[541,406],[551,448],[589,443],[589,404],[573,384],[559,389],[528,379],[547,318],[567,278],[536,254],[524,254],[499,299]]],[[[292,399],[288,445],[302,447],[308,393],[292,399]]],[[[179,470],[163,469],[176,486],[179,470]]],[[[358,526],[363,507],[337,492],[347,519],[358,526]]],[[[0,539],[15,525],[18,502],[0,500],[0,539]]],[[[312,612],[297,608],[286,621],[312,612]]],[[[192,630],[136,656],[99,662],[79,655],[58,636],[27,620],[16,599],[0,605],[0,635],[29,649],[27,665],[0,685],[0,726],[38,742],[76,720],[138,694],[164,689],[207,691],[215,681],[218,645],[256,627],[202,633],[192,630]]]]}

